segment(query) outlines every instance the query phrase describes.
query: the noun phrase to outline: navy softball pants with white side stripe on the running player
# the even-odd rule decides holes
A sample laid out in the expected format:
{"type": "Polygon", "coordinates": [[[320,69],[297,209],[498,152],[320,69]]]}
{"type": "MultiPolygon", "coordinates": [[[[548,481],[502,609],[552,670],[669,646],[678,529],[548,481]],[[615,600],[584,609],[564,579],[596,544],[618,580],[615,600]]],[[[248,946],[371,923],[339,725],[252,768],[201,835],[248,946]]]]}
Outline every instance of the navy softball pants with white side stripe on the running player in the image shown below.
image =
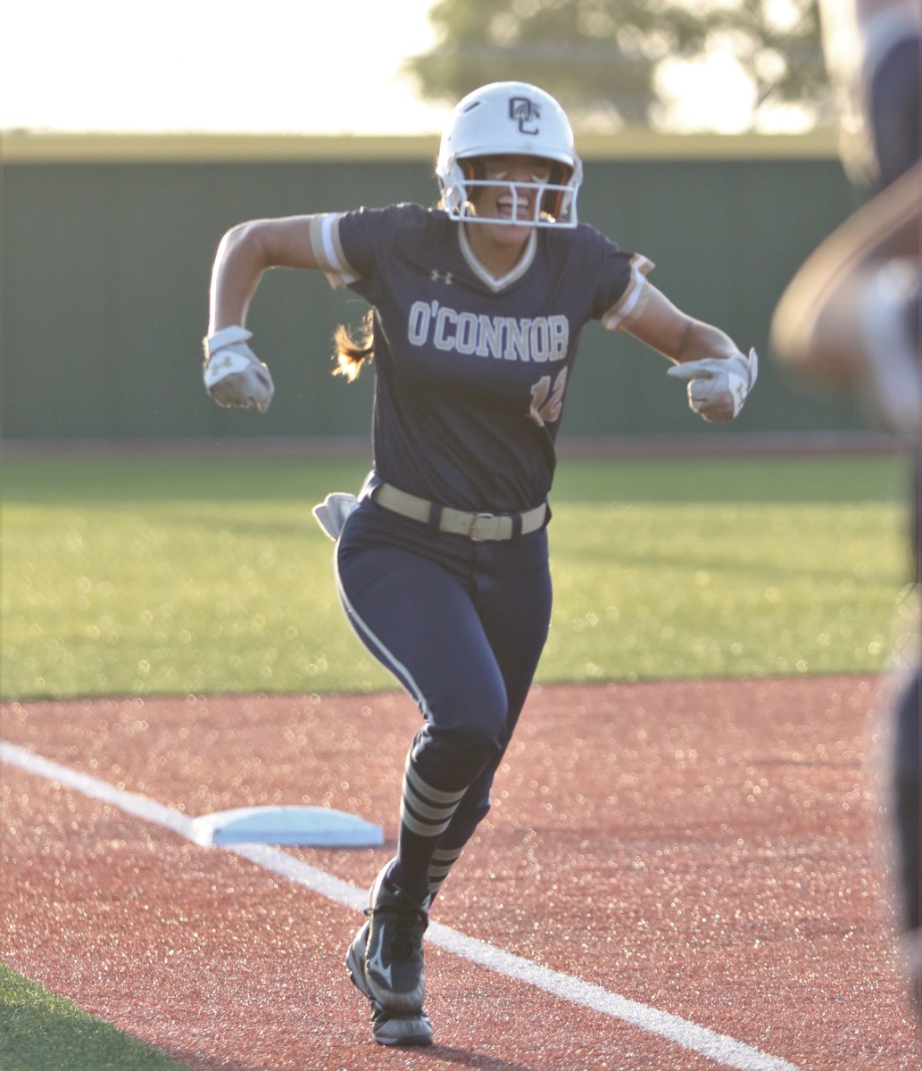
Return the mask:
{"type": "Polygon", "coordinates": [[[547,533],[473,542],[365,499],[336,547],[362,643],[418,703],[389,878],[423,901],[489,810],[494,775],[547,639],[547,533]]]}

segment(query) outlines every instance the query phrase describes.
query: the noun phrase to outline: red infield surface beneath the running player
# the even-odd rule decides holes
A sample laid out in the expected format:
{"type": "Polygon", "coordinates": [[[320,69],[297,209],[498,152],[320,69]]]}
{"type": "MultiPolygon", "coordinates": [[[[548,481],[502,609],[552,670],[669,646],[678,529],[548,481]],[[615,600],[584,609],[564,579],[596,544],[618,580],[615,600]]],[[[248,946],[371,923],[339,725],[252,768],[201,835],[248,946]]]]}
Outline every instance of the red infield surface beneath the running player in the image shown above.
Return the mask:
{"type": "MultiPolygon", "coordinates": [[[[0,960],[196,1069],[910,1071],[881,709],[860,677],[535,688],[434,907],[754,1062],[432,946],[436,1043],[381,1049],[343,966],[359,912],[9,763],[0,960]]],[[[361,889],[392,854],[418,723],[397,693],[0,708],[7,743],[188,816],[308,803],[380,823],[380,848],[286,849],[361,889]]]]}

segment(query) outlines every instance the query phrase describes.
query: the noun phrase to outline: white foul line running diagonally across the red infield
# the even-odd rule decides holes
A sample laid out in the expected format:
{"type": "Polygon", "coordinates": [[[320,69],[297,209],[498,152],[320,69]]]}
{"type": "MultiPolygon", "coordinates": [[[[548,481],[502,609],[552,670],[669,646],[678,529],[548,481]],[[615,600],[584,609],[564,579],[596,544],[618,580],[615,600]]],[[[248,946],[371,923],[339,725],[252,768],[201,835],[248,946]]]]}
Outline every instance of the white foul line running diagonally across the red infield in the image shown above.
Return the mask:
{"type": "MultiPolygon", "coordinates": [[[[24,751],[14,744],[0,740],[0,761],[10,763],[30,773],[47,778],[61,785],[75,788],[77,791],[104,803],[111,803],[126,814],[135,815],[145,821],[154,823],[172,830],[186,840],[194,841],[193,819],[172,808],[164,806],[146,796],[117,788],[97,778],[79,773],[66,766],[52,763],[32,752],[24,751]]],[[[356,886],[349,885],[332,874],[301,862],[279,848],[262,844],[222,845],[221,850],[233,851],[243,859],[272,871],[283,877],[304,886],[312,892],[319,893],[329,900],[361,910],[365,906],[366,893],[356,886]]],[[[479,966],[485,967],[508,978],[526,982],[535,989],[544,990],[551,995],[569,1000],[571,1004],[583,1005],[603,1015],[620,1019],[625,1023],[656,1034],[683,1049],[692,1050],[708,1057],[716,1064],[736,1071],[800,1071],[793,1064],[788,1064],[776,1056],[770,1056],[752,1045],[743,1044],[725,1034],[717,1034],[707,1027],[698,1026],[678,1015],[651,1008],[636,1000],[629,1000],[603,989],[592,985],[572,975],[559,970],[550,970],[538,963],[532,963],[519,955],[504,952],[486,941],[443,926],[437,922],[426,931],[426,940],[443,948],[455,955],[463,956],[479,966]]]]}

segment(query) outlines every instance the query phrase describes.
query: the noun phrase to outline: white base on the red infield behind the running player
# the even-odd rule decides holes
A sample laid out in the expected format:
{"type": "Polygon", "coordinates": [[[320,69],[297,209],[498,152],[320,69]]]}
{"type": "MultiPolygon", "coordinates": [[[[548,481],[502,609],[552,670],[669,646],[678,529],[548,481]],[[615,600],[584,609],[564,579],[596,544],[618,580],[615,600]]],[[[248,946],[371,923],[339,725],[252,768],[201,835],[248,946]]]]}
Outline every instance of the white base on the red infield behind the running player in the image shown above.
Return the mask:
{"type": "Polygon", "coordinates": [[[196,844],[300,844],[367,847],[384,843],[380,826],[322,806],[242,806],[192,820],[196,844]]]}

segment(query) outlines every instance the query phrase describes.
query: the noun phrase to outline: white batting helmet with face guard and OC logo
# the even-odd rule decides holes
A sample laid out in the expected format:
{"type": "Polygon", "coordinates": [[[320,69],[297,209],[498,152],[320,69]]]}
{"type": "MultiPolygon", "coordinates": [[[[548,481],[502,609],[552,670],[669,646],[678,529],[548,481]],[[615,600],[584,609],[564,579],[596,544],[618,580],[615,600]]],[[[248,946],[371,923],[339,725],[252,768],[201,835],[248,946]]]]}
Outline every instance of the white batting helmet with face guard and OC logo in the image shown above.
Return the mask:
{"type": "Polygon", "coordinates": [[[499,81],[469,93],[453,110],[442,133],[436,176],[442,205],[453,220],[533,227],[575,227],[576,195],[583,163],[573,148],[573,131],[560,105],[544,90],[520,81],[499,81]],[[487,175],[485,157],[533,156],[532,180],[507,181],[487,175]],[[512,196],[512,213],[478,212],[479,194],[500,186],[512,196]],[[530,215],[518,218],[524,192],[530,215]],[[534,196],[530,193],[534,191],[534,196]]]}

